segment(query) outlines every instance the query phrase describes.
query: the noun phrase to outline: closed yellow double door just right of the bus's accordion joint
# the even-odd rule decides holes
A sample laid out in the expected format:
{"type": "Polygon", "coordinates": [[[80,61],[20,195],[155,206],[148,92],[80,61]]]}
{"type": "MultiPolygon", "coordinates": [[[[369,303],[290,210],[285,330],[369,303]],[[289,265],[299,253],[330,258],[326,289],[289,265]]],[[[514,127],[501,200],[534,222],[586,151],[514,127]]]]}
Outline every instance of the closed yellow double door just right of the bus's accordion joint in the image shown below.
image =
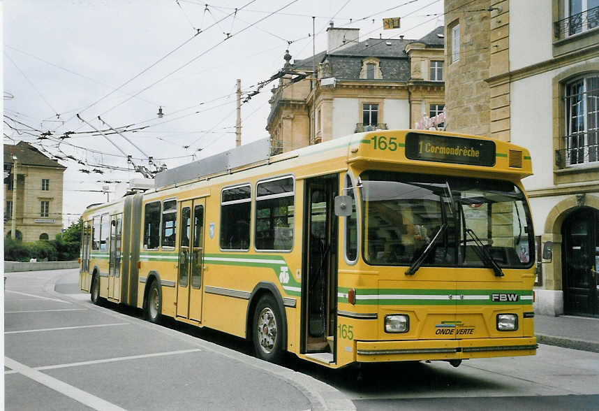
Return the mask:
{"type": "Polygon", "coordinates": [[[204,199],[181,203],[177,276],[177,317],[202,320],[204,199]]]}

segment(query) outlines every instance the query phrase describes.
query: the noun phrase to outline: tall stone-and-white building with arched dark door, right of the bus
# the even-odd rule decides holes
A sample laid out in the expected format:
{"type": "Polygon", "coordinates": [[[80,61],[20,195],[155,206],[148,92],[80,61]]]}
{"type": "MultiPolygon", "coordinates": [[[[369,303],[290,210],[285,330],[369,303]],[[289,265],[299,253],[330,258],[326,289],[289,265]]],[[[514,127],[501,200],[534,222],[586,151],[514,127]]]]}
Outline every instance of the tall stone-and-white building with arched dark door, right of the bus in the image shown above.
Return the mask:
{"type": "Polygon", "coordinates": [[[445,12],[448,130],[531,150],[535,312],[598,316],[597,3],[445,0],[445,12]]]}

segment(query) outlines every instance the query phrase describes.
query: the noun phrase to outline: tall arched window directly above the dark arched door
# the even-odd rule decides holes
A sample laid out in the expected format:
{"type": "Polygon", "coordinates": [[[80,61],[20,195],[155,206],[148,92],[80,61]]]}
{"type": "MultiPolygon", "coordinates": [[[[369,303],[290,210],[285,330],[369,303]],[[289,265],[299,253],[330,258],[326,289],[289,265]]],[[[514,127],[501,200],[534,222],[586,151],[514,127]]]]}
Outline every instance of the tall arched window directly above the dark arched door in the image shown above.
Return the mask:
{"type": "Polygon", "coordinates": [[[599,74],[565,85],[565,166],[599,160],[599,74]]]}

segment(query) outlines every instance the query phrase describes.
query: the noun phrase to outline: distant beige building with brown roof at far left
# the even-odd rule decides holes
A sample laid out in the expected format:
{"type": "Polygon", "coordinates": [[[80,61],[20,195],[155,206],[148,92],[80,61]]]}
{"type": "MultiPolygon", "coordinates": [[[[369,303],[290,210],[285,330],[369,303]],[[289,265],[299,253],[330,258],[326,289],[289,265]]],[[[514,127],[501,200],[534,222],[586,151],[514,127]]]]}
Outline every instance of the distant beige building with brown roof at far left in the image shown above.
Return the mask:
{"type": "Polygon", "coordinates": [[[15,237],[23,241],[49,240],[61,232],[65,170],[66,167],[24,141],[4,145],[5,236],[10,236],[13,215],[16,218],[15,237]],[[13,203],[15,192],[17,196],[13,203]]]}

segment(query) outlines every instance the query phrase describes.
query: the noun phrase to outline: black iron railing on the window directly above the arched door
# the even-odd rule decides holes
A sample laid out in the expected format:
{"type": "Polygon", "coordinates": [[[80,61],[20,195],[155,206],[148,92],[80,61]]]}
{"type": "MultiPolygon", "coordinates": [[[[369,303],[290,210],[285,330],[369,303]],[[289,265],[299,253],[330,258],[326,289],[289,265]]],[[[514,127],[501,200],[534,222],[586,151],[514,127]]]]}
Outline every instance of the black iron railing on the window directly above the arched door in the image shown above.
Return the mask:
{"type": "Polygon", "coordinates": [[[555,150],[559,169],[597,166],[599,168],[599,131],[563,137],[563,147],[555,150]]]}

